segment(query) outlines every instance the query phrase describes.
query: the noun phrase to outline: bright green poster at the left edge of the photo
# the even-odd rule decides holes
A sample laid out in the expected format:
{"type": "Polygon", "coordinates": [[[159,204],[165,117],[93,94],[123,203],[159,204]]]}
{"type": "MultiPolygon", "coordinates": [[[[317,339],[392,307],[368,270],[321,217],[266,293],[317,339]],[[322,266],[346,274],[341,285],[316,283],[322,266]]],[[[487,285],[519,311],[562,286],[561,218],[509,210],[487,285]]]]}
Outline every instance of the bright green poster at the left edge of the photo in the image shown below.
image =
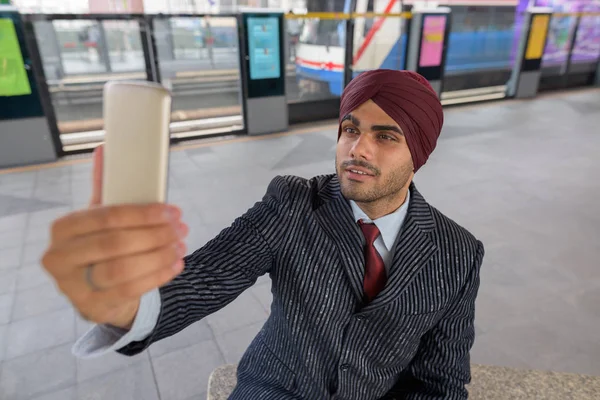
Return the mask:
{"type": "Polygon", "coordinates": [[[0,96],[31,94],[13,21],[0,18],[0,96]]]}

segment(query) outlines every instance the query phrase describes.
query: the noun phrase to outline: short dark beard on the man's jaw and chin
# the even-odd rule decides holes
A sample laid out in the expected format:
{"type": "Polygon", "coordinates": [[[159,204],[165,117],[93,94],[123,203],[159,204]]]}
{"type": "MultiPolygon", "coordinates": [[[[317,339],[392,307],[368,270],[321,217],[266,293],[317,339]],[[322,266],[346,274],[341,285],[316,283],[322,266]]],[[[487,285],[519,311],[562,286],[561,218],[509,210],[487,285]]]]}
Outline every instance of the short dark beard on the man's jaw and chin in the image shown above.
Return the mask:
{"type": "Polygon", "coordinates": [[[339,164],[336,159],[336,172],[342,194],[348,200],[357,203],[373,203],[385,198],[393,197],[408,183],[413,172],[412,163],[383,174],[381,170],[364,161],[346,161],[339,164]],[[349,166],[368,168],[373,174],[372,182],[355,182],[343,177],[344,171],[349,166]]]}

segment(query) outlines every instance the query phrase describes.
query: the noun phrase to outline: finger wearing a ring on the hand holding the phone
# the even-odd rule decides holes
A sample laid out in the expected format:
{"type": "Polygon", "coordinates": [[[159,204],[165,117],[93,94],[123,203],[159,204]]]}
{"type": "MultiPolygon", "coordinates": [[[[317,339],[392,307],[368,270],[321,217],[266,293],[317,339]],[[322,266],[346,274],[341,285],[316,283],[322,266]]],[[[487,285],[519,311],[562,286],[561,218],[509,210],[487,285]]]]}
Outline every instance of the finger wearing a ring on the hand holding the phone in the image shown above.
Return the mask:
{"type": "MultiPolygon", "coordinates": [[[[174,268],[185,256],[185,251],[185,244],[177,242],[147,253],[97,263],[91,271],[91,279],[96,286],[106,290],[161,269],[174,268]]],[[[85,273],[85,268],[81,268],[81,275],[84,276],[85,273]]]]}

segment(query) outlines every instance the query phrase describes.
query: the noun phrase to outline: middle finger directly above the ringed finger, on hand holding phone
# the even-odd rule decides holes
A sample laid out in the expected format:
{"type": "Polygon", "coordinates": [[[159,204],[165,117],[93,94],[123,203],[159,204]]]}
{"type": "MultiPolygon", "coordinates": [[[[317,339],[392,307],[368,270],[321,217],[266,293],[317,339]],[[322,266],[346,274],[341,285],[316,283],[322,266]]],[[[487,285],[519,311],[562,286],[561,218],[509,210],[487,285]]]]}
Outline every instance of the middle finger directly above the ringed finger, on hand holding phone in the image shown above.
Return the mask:
{"type": "Polygon", "coordinates": [[[187,225],[178,223],[75,237],[47,252],[44,264],[55,278],[68,278],[78,267],[151,252],[179,242],[188,233],[187,225]]]}

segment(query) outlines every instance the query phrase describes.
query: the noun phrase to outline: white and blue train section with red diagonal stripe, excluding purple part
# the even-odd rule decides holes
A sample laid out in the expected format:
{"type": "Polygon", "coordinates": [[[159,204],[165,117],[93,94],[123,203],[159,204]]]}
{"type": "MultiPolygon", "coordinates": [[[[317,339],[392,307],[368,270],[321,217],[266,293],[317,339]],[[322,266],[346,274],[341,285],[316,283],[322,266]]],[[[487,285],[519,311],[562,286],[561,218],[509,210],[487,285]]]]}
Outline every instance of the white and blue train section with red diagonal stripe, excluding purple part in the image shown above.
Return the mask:
{"type": "MultiPolygon", "coordinates": [[[[511,66],[517,0],[447,0],[437,2],[452,10],[446,74],[474,70],[505,70],[511,66]]],[[[358,0],[343,12],[401,13],[412,2],[358,0]]],[[[377,68],[404,66],[407,21],[399,17],[362,18],[354,23],[353,74],[377,68]]],[[[343,90],[345,21],[305,21],[296,46],[299,81],[320,85],[321,92],[340,96],[343,90]]]]}

